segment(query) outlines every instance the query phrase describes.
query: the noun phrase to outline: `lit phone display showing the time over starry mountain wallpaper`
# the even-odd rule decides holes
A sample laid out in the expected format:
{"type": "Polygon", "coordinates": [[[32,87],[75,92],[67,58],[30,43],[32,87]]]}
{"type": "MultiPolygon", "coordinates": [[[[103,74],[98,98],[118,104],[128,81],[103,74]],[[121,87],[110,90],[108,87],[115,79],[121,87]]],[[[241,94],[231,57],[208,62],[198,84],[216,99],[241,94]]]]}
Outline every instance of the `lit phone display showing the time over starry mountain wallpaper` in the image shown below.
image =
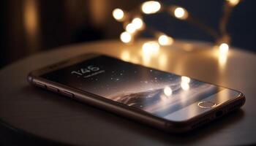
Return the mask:
{"type": "Polygon", "coordinates": [[[99,55],[43,78],[136,107],[161,118],[221,91],[216,85],[99,55]]]}

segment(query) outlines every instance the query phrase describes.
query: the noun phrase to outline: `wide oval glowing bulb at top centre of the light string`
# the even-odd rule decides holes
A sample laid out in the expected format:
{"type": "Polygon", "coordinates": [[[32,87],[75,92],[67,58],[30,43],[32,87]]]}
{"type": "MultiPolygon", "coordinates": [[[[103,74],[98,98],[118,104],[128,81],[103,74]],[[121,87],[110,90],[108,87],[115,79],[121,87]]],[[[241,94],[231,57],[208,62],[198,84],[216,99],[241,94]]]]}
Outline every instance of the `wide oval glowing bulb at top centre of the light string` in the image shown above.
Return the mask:
{"type": "Polygon", "coordinates": [[[142,4],[141,10],[145,14],[154,14],[161,9],[161,4],[158,1],[146,1],[142,4]]]}

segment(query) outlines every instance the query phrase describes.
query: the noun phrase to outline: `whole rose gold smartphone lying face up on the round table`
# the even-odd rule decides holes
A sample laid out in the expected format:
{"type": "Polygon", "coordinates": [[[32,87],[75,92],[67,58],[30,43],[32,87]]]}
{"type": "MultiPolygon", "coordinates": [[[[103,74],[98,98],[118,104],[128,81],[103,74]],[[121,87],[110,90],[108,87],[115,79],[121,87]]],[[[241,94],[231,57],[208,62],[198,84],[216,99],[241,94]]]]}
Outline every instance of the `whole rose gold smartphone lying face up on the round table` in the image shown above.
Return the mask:
{"type": "Polygon", "coordinates": [[[169,132],[191,131],[245,102],[239,91],[93,53],[38,69],[28,80],[169,132]]]}

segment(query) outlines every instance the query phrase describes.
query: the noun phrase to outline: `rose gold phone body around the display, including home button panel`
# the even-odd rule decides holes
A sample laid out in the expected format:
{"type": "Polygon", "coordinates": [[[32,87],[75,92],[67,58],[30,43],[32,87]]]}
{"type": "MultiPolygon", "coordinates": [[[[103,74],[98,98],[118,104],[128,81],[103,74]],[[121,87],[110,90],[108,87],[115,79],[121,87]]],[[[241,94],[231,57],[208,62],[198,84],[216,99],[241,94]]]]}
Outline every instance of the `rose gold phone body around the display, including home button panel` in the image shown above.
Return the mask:
{"type": "Polygon", "coordinates": [[[211,120],[220,118],[223,115],[226,115],[228,112],[240,108],[245,103],[245,97],[241,92],[225,88],[224,91],[220,91],[213,96],[209,96],[207,99],[197,101],[194,104],[178,110],[178,112],[173,115],[171,120],[166,120],[165,118],[157,117],[151,113],[127,106],[125,104],[121,104],[117,101],[106,99],[93,93],[81,91],[77,88],[72,88],[67,85],[62,85],[58,82],[53,82],[39,77],[41,74],[61,69],[64,66],[77,64],[80,61],[85,61],[98,55],[99,54],[81,55],[77,58],[71,58],[58,64],[46,66],[42,69],[31,72],[28,75],[28,80],[32,85],[36,85],[48,91],[60,93],[72,99],[77,99],[78,101],[82,101],[86,104],[99,107],[103,110],[108,110],[118,115],[132,118],[133,120],[137,120],[140,123],[146,123],[149,126],[154,126],[155,128],[175,133],[191,131],[192,129],[203,126],[206,123],[209,123],[211,120]],[[206,103],[206,107],[200,108],[200,102],[202,103],[204,101],[214,102],[215,106],[208,108],[206,103]]]}

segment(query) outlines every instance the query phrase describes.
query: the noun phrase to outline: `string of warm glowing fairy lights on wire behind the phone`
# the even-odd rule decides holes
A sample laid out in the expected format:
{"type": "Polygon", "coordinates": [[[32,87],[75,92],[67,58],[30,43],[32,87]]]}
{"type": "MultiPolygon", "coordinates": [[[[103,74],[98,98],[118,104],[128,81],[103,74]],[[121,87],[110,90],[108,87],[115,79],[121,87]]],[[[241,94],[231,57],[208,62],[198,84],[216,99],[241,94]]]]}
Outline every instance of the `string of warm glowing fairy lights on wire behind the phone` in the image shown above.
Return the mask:
{"type": "MultiPolygon", "coordinates": [[[[235,7],[241,0],[225,0],[226,3],[228,4],[230,7],[235,7]]],[[[164,5],[160,4],[159,1],[146,1],[143,2],[143,4],[141,4],[141,12],[143,14],[154,14],[159,12],[160,10],[165,10],[162,9],[162,7],[165,7],[164,5]]],[[[230,7],[224,7],[225,9],[230,9],[230,7]]],[[[202,28],[204,31],[206,31],[208,34],[211,35],[211,37],[214,37],[214,39],[216,39],[217,44],[219,44],[219,42],[230,42],[230,36],[227,34],[226,32],[226,26],[227,24],[225,22],[227,22],[227,20],[229,19],[229,17],[225,17],[227,15],[230,15],[229,10],[225,10],[224,14],[223,14],[223,19],[220,20],[220,25],[219,29],[220,29],[220,35],[218,34],[218,32],[214,31],[213,28],[211,28],[210,26],[206,26],[204,23],[200,22],[200,20],[190,17],[189,16],[189,12],[187,12],[187,9],[184,9],[183,7],[178,7],[178,6],[170,6],[168,8],[169,12],[171,15],[173,15],[173,17],[179,19],[179,20],[187,20],[188,22],[194,23],[195,25],[199,26],[200,28],[202,28]],[[189,18],[189,19],[188,19],[189,18]],[[222,39],[223,36],[226,36],[226,39],[218,41],[220,39],[222,39]]],[[[231,9],[232,10],[232,9],[231,9]]],[[[138,12],[138,11],[136,11],[138,12]]],[[[130,22],[127,24],[127,26],[125,26],[125,31],[123,33],[121,33],[120,35],[120,39],[121,42],[124,43],[129,43],[131,42],[134,38],[133,37],[137,37],[138,33],[140,33],[141,30],[143,30],[144,27],[146,27],[146,24],[143,22],[143,19],[140,17],[135,17],[131,20],[130,17],[128,16],[133,16],[134,14],[136,14],[137,16],[140,16],[141,14],[135,13],[135,12],[130,12],[131,15],[129,15],[129,13],[124,13],[124,11],[122,9],[114,9],[112,14],[113,14],[113,18],[115,18],[118,21],[123,21],[123,22],[130,22]],[[138,32],[137,32],[138,31],[138,32]]],[[[157,37],[157,41],[151,41],[151,42],[145,42],[142,46],[142,50],[143,50],[143,54],[154,54],[157,53],[159,50],[159,45],[172,45],[174,40],[172,37],[168,37],[165,34],[162,34],[159,31],[154,31],[152,28],[148,28],[149,31],[154,33],[154,36],[157,37]],[[152,31],[153,30],[153,31],[152,31]],[[156,34],[161,34],[156,35],[156,34]]],[[[229,45],[227,43],[222,43],[219,44],[219,56],[223,55],[223,54],[227,54],[228,50],[229,50],[229,45]]],[[[190,50],[190,49],[189,49],[190,50]]],[[[148,56],[148,55],[145,55],[148,56]]],[[[225,55],[227,56],[227,55],[225,55]]],[[[148,60],[148,59],[146,59],[148,60]]],[[[181,88],[183,88],[184,90],[188,90],[189,89],[189,82],[190,79],[188,77],[181,77],[181,88]]]]}

